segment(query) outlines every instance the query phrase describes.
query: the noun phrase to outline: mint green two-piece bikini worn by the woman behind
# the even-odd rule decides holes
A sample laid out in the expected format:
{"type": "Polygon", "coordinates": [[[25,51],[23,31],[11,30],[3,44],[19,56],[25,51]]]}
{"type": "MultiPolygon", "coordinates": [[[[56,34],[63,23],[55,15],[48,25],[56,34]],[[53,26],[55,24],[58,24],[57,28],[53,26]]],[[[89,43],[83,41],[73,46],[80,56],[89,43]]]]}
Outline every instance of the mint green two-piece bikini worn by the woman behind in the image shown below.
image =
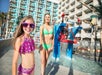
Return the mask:
{"type": "MultiPolygon", "coordinates": [[[[50,29],[50,30],[48,31],[46,28],[44,28],[44,29],[43,29],[43,35],[49,35],[49,34],[53,34],[53,29],[50,29]]],[[[45,50],[48,50],[49,48],[51,48],[52,44],[43,43],[42,46],[43,46],[43,48],[44,48],[45,50]]]]}

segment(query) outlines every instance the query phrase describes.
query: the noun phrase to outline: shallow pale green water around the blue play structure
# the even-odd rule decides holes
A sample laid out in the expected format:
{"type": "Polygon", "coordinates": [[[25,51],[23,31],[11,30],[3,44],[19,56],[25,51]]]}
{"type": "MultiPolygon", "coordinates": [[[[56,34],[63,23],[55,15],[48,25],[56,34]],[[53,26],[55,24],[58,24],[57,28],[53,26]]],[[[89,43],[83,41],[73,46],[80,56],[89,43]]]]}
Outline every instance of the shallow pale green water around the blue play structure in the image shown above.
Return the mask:
{"type": "MultiPolygon", "coordinates": [[[[52,54],[50,55],[49,61],[55,62],[52,54]]],[[[98,64],[97,62],[85,59],[77,55],[73,55],[73,58],[69,59],[65,55],[65,50],[64,52],[61,51],[61,56],[57,63],[69,68],[68,75],[73,75],[74,70],[89,73],[91,75],[102,75],[102,63],[98,64]]]]}

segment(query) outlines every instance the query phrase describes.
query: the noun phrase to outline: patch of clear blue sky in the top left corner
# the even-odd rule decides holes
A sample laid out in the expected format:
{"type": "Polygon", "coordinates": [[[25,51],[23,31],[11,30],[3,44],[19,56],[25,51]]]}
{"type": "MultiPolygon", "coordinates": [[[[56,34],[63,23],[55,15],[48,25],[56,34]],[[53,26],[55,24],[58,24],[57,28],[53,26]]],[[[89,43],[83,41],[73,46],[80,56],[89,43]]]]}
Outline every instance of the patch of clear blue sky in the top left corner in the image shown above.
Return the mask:
{"type": "Polygon", "coordinates": [[[8,12],[9,0],[0,0],[0,12],[8,12]]]}

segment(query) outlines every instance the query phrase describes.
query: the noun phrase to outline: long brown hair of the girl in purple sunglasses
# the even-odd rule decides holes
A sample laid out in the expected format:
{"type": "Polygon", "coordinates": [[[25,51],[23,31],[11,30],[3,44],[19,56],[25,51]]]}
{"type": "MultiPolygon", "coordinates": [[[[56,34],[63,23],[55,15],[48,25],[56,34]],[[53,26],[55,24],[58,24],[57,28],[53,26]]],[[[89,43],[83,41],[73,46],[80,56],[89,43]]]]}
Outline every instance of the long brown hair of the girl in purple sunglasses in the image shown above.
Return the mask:
{"type": "Polygon", "coordinates": [[[17,37],[19,37],[19,36],[21,36],[22,34],[24,34],[23,27],[22,27],[21,24],[22,24],[23,22],[25,22],[26,20],[28,20],[28,19],[31,19],[31,20],[34,22],[34,19],[33,19],[33,17],[32,17],[31,15],[25,16],[25,17],[20,21],[19,25],[18,25],[17,28],[16,28],[16,31],[14,32],[15,34],[14,34],[14,38],[13,38],[13,47],[14,47],[14,45],[15,45],[15,42],[16,42],[17,37]]]}

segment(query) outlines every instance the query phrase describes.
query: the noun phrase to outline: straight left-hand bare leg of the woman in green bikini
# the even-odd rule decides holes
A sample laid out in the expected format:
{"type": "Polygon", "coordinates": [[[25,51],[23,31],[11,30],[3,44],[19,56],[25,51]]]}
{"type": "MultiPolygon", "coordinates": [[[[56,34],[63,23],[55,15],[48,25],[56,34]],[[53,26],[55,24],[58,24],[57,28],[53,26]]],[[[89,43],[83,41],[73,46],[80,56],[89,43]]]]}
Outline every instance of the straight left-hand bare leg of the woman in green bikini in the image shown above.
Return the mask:
{"type": "Polygon", "coordinates": [[[46,51],[41,50],[41,75],[44,75],[45,67],[46,67],[46,51]]]}

